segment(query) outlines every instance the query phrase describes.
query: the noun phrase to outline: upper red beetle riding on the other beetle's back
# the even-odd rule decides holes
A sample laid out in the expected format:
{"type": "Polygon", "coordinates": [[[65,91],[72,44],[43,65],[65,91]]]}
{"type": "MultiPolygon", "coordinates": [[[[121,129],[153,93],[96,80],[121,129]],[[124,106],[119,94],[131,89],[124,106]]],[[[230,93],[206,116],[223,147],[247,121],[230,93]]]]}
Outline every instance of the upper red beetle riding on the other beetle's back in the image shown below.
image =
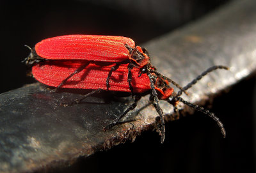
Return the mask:
{"type": "Polygon", "coordinates": [[[79,73],[89,63],[115,63],[115,66],[112,66],[109,70],[106,79],[108,90],[112,72],[117,70],[120,64],[129,64],[127,66],[127,80],[131,93],[133,93],[131,84],[132,68],[140,69],[140,74],[142,74],[146,72],[145,68],[150,64],[149,57],[141,47],[135,47],[131,38],[123,36],[67,35],[48,38],[36,43],[35,49],[24,61],[26,61],[26,64],[34,64],[49,60],[85,60],[84,64],[81,64],[81,67],[71,73],[57,88],[60,88],[70,77],[79,73]]]}

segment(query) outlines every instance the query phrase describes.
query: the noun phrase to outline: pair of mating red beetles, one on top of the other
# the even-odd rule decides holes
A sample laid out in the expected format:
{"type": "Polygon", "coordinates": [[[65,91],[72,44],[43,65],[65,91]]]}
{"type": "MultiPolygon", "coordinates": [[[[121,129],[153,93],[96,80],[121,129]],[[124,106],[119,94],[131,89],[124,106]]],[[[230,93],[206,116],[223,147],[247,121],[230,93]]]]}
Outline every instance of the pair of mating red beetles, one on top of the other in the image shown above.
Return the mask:
{"type": "Polygon", "coordinates": [[[225,129],[218,117],[203,107],[186,102],[180,95],[186,93],[187,89],[207,73],[219,68],[227,70],[226,66],[212,66],[187,86],[181,87],[159,73],[150,63],[147,50],[135,46],[131,38],[90,35],[67,35],[42,40],[35,45],[35,49],[31,49],[31,54],[24,61],[28,65],[33,64],[32,73],[35,79],[48,86],[56,89],[95,89],[70,105],[100,90],[135,94],[134,103],[104,130],[120,123],[120,119],[137,106],[141,96],[150,93],[150,102],[160,116],[161,143],[164,142],[165,127],[159,100],[172,104],[175,111],[177,104],[182,102],[204,112],[218,123],[225,137],[225,129]],[[179,88],[178,93],[173,91],[170,83],[179,88]]]}

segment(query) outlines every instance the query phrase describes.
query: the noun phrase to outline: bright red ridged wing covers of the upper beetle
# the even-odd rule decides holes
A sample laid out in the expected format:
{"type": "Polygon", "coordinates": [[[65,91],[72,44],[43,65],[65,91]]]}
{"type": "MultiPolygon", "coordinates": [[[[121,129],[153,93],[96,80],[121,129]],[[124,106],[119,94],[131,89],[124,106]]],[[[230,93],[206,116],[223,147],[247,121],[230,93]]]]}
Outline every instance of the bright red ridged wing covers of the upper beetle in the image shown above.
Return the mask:
{"type": "Polygon", "coordinates": [[[67,35],[47,38],[35,45],[36,54],[45,59],[83,59],[120,62],[129,58],[125,44],[134,48],[131,38],[123,36],[67,35]]]}

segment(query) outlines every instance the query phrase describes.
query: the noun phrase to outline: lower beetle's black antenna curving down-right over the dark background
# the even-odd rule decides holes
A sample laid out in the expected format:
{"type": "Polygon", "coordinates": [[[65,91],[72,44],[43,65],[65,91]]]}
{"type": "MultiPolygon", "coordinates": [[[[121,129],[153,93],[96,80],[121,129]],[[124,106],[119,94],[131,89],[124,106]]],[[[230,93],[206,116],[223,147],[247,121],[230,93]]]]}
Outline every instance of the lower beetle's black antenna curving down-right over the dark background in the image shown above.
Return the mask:
{"type": "Polygon", "coordinates": [[[207,114],[209,117],[211,117],[212,119],[214,119],[214,121],[216,121],[216,123],[218,124],[218,126],[220,127],[220,130],[221,130],[221,133],[223,135],[223,137],[226,137],[226,131],[225,131],[225,128],[223,126],[223,124],[221,123],[220,119],[218,117],[216,117],[212,112],[210,112],[209,110],[207,109],[204,109],[204,107],[200,107],[198,105],[195,105],[193,103],[189,103],[187,102],[186,100],[183,100],[182,98],[180,97],[175,97],[174,98],[175,100],[179,101],[179,102],[182,102],[186,105],[188,105],[189,107],[195,109],[195,110],[198,110],[200,112],[203,112],[204,114],[207,114]]]}

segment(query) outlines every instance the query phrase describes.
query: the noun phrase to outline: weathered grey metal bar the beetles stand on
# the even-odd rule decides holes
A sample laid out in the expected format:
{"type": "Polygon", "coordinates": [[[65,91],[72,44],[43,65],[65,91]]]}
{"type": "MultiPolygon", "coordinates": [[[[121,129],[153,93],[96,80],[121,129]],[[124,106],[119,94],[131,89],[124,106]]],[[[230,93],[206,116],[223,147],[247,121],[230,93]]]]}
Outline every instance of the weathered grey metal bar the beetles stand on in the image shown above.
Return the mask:
{"type": "MultiPolygon", "coordinates": [[[[256,70],[255,8],[254,0],[235,1],[144,46],[158,70],[182,86],[209,66],[229,66],[230,71],[211,73],[189,89],[189,97],[184,96],[191,102],[203,102],[256,70]]],[[[156,128],[157,113],[145,96],[130,116],[137,119],[133,125],[125,123],[103,132],[102,127],[132,103],[130,97],[115,94],[102,93],[72,107],[58,103],[80,94],[50,93],[38,83],[1,94],[0,172],[70,164],[79,156],[134,140],[142,131],[156,128]]],[[[161,107],[166,117],[172,114],[172,107],[164,101],[161,107]]]]}

